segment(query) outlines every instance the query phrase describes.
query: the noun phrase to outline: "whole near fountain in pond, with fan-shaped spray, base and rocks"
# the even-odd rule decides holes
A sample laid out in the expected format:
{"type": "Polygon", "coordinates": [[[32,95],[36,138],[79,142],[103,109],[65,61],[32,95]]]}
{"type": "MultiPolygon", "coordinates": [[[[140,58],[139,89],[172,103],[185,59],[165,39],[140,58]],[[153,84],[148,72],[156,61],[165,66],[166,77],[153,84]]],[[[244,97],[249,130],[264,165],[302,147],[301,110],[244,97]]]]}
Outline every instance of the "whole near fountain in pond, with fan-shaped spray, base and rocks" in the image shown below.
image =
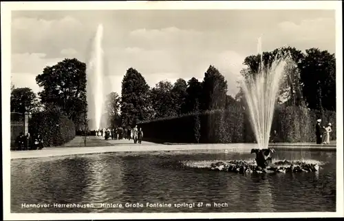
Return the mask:
{"type": "MultiPolygon", "coordinates": [[[[195,162],[182,162],[183,167],[231,171],[236,173],[297,173],[319,171],[319,163],[281,160],[272,162],[274,149],[269,149],[270,130],[279,95],[279,86],[286,67],[291,60],[290,54],[277,52],[270,65],[264,65],[261,41],[258,43],[260,65],[257,73],[252,73],[242,82],[245,101],[248,107],[251,127],[257,140],[258,149],[252,149],[255,162],[230,160],[228,162],[208,162],[203,167],[195,162]]],[[[204,164],[204,163],[203,163],[204,164]]]]}

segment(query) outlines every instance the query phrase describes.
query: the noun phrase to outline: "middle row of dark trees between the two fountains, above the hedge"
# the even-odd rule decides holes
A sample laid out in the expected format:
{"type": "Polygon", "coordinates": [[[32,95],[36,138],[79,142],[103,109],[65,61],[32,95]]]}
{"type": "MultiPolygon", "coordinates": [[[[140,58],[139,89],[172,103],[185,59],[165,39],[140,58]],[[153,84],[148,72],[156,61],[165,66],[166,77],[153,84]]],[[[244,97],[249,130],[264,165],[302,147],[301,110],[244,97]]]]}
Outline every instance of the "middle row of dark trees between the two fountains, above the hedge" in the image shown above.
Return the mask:
{"type": "Polygon", "coordinates": [[[235,99],[227,95],[227,82],[213,66],[204,74],[204,81],[179,78],[175,83],[160,81],[153,88],[140,72],[127,70],[122,81],[120,113],[124,125],[144,120],[182,116],[200,110],[225,109],[235,99]]]}

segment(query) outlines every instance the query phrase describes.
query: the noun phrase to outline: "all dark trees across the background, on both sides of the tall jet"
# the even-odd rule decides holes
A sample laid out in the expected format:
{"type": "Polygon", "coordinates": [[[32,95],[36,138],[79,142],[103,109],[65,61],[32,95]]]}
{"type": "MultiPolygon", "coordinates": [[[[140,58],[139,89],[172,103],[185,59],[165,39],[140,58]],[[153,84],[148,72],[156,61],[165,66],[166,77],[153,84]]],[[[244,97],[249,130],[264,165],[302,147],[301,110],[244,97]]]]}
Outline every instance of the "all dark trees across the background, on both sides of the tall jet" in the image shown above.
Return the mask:
{"type": "MultiPolygon", "coordinates": [[[[268,66],[275,56],[289,53],[294,62],[286,75],[280,95],[286,105],[306,105],[310,109],[336,109],[336,59],[334,54],[316,48],[305,53],[295,48],[281,48],[264,52],[262,61],[268,66]],[[283,54],[282,53],[282,54],[283,54]]],[[[259,55],[246,57],[241,70],[244,77],[257,73],[261,59],[259,55]]],[[[28,87],[12,87],[12,112],[39,112],[59,109],[76,128],[87,118],[86,64],[77,59],[64,59],[51,67],[45,67],[36,76],[36,83],[43,90],[38,96],[28,87]],[[40,98],[40,101],[38,99],[40,98]]],[[[160,81],[150,88],[144,76],[130,67],[122,80],[121,97],[116,92],[107,96],[106,112],[109,125],[134,125],[157,118],[182,116],[213,109],[228,109],[231,105],[242,105],[242,92],[233,98],[227,94],[224,76],[213,65],[204,73],[203,81],[180,78],[175,83],[160,81]]]]}

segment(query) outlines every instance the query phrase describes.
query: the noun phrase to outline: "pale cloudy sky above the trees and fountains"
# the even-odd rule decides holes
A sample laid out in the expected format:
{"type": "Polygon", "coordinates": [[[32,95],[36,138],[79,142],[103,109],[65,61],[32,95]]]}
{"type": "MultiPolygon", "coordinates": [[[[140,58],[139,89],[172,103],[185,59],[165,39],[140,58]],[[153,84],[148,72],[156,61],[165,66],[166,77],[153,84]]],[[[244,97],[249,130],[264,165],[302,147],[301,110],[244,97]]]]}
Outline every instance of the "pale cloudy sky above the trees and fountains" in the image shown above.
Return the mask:
{"type": "Polygon", "coordinates": [[[11,81],[42,90],[36,75],[65,58],[87,63],[89,44],[103,24],[105,92],[121,91],[129,67],[150,87],[178,78],[202,81],[215,65],[238,91],[245,57],[282,46],[335,53],[333,10],[60,10],[12,11],[11,81]]]}

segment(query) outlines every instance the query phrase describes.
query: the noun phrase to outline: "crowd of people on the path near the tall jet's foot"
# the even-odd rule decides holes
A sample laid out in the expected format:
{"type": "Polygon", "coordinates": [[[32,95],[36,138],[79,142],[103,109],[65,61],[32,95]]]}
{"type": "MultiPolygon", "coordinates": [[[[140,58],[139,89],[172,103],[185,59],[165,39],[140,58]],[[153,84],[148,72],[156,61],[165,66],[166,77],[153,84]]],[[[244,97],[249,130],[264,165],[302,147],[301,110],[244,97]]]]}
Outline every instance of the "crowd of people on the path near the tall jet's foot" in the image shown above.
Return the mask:
{"type": "Polygon", "coordinates": [[[116,128],[103,128],[96,131],[96,136],[102,136],[105,140],[122,140],[133,139],[133,143],[142,143],[143,138],[143,131],[142,128],[138,128],[136,125],[133,128],[123,128],[123,127],[116,127],[116,128]]]}

